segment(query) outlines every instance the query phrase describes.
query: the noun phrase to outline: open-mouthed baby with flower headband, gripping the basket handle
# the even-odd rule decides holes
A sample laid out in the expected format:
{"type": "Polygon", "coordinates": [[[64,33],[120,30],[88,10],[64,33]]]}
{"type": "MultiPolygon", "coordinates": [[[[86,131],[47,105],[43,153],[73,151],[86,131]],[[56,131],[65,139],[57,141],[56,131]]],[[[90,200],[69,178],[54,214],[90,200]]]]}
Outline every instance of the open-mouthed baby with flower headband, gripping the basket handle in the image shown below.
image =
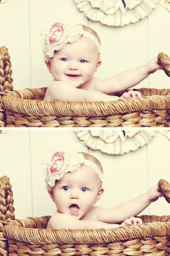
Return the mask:
{"type": "Polygon", "coordinates": [[[45,182],[57,210],[48,229],[111,229],[142,223],[137,216],[163,194],[158,185],[114,208],[94,205],[102,196],[103,168],[89,153],[55,152],[44,161],[45,182]]]}

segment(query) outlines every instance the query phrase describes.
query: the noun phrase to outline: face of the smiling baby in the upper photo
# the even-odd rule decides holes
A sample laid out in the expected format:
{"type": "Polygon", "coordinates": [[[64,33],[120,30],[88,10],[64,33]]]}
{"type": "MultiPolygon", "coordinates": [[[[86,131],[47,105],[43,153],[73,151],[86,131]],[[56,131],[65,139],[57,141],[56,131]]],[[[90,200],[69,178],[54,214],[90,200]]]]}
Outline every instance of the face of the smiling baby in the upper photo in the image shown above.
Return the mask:
{"type": "Polygon", "coordinates": [[[76,88],[87,84],[100,65],[99,53],[94,42],[81,36],[56,51],[48,67],[56,81],[68,82],[76,88]]]}

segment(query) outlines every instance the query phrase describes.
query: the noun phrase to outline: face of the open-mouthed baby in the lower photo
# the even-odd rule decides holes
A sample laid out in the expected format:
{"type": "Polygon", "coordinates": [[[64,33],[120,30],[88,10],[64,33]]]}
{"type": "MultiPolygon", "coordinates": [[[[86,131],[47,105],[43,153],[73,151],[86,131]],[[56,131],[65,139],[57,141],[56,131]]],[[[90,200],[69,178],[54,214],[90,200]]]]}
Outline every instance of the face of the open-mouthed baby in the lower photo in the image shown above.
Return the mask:
{"type": "Polygon", "coordinates": [[[90,166],[82,165],[78,171],[67,173],[53,188],[53,201],[59,213],[83,218],[101,193],[98,174],[90,166]]]}

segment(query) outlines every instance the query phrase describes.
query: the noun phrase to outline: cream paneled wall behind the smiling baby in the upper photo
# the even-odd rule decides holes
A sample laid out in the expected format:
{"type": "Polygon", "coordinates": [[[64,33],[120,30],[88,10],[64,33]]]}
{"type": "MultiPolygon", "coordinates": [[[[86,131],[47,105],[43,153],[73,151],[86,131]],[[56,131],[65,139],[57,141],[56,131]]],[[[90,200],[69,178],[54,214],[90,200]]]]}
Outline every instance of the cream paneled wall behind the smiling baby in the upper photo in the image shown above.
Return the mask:
{"type": "MultiPolygon", "coordinates": [[[[124,27],[91,22],[74,0],[8,0],[0,4],[0,46],[9,48],[14,89],[48,86],[52,77],[42,59],[40,31],[55,20],[90,25],[102,39],[102,67],[97,76],[108,77],[137,67],[160,51],[170,55],[170,12],[160,4],[143,20],[124,27]]],[[[163,71],[140,82],[138,88],[169,88],[163,71]]]]}

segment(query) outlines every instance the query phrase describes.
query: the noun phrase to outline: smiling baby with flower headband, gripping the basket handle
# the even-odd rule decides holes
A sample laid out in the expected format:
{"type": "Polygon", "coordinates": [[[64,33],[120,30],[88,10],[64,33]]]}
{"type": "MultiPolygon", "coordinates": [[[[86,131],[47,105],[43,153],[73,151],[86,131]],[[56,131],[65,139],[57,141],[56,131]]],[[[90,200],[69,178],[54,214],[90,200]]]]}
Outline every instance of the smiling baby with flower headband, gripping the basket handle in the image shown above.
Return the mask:
{"type": "MultiPolygon", "coordinates": [[[[45,93],[45,101],[117,101],[112,93],[132,88],[162,69],[158,60],[151,59],[135,69],[114,77],[94,77],[100,67],[101,41],[99,35],[86,25],[56,22],[42,34],[43,54],[53,82],[45,93]]],[[[141,97],[135,90],[121,98],[141,97]]]]}

